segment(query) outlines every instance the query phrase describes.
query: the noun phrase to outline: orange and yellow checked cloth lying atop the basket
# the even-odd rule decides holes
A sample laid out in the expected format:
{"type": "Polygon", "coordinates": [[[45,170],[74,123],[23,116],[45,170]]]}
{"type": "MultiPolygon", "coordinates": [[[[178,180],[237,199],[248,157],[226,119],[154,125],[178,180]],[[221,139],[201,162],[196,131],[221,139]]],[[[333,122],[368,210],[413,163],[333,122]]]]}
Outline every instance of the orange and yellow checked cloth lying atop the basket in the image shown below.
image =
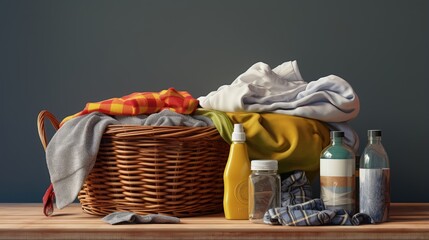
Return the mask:
{"type": "Polygon", "coordinates": [[[198,100],[186,91],[174,88],[161,92],[135,92],[121,98],[111,98],[100,102],[87,103],[85,108],[63,119],[60,126],[68,120],[91,112],[101,112],[107,115],[129,115],[157,113],[164,109],[191,114],[198,107],[198,100]]]}

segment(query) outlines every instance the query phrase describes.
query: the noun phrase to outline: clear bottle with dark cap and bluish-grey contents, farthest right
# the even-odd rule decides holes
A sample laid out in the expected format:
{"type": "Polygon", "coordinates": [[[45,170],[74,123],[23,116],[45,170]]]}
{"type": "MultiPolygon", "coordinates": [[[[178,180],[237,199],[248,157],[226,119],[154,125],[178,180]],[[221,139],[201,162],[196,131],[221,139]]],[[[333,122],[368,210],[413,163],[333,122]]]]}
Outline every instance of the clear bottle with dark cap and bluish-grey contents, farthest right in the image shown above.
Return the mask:
{"type": "Polygon", "coordinates": [[[368,131],[368,144],[360,158],[360,212],[385,222],[390,209],[389,158],[381,144],[381,131],[368,131]]]}

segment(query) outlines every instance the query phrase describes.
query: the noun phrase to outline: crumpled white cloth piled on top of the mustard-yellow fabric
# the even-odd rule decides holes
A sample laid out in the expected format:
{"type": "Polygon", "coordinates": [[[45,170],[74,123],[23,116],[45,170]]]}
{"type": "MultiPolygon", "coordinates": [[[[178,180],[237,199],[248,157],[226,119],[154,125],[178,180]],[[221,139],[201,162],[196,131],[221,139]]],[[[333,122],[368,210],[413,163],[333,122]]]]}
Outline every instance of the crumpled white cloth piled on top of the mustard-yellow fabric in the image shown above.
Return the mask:
{"type": "Polygon", "coordinates": [[[328,123],[345,132],[345,142],[355,151],[359,138],[347,121],[360,109],[359,98],[344,79],[329,75],[316,81],[302,79],[296,61],[271,69],[263,62],[251,66],[230,85],[198,98],[201,107],[224,112],[274,112],[328,123]]]}

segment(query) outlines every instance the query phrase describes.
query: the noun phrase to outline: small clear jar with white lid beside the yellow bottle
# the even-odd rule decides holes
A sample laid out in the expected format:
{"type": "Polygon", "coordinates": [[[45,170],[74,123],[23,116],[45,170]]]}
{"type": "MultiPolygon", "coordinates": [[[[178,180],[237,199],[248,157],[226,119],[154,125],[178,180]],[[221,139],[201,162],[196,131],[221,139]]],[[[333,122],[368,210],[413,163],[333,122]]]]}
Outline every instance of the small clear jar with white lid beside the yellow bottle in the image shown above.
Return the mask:
{"type": "Polygon", "coordinates": [[[268,209],[281,206],[281,180],[277,160],[253,160],[249,175],[249,220],[263,223],[268,209]]]}

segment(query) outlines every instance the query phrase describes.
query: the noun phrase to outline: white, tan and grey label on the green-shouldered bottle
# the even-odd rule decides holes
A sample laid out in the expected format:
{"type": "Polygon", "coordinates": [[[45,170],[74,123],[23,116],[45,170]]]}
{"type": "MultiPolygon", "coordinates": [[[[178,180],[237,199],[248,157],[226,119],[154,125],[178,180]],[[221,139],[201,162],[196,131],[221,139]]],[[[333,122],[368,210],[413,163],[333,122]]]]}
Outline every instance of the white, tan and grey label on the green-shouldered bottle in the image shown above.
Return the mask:
{"type": "Polygon", "coordinates": [[[320,196],[329,209],[354,212],[355,159],[320,159],[320,196]]]}

